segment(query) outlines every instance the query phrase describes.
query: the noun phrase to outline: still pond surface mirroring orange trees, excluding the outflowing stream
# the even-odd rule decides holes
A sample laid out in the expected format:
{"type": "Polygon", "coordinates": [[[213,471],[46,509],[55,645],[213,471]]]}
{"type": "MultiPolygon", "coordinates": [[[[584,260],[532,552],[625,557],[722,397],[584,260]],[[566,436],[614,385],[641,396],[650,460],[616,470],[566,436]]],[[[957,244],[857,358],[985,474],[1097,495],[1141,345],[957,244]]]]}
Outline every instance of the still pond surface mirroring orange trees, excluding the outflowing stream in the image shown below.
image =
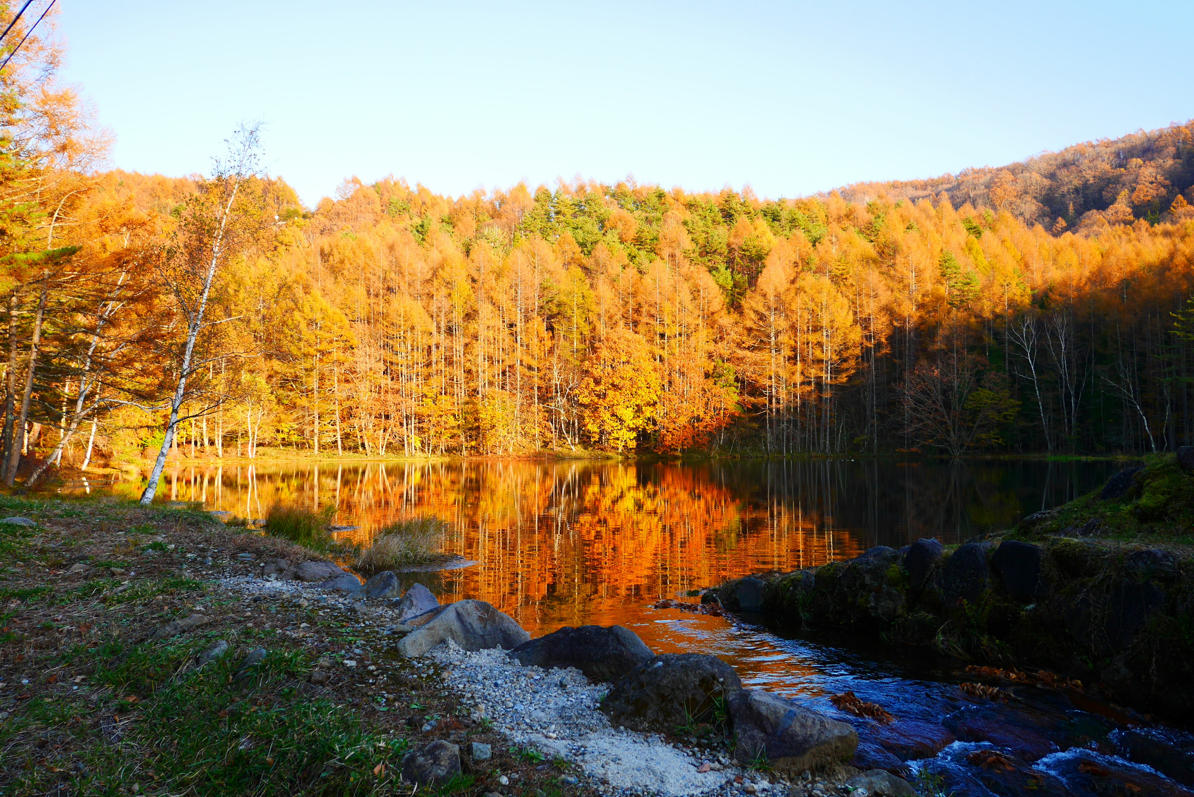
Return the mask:
{"type": "MultiPolygon", "coordinates": [[[[893,460],[345,462],[168,468],[162,498],[242,517],[276,502],[337,507],[358,542],[386,523],[436,515],[444,548],[480,564],[437,576],[450,600],[479,597],[531,633],[646,623],[664,649],[690,649],[696,620],[658,624],[646,606],[765,570],[958,541],[1069,501],[1115,462],[893,460]]],[[[647,631],[647,630],[645,630],[647,631]]]]}

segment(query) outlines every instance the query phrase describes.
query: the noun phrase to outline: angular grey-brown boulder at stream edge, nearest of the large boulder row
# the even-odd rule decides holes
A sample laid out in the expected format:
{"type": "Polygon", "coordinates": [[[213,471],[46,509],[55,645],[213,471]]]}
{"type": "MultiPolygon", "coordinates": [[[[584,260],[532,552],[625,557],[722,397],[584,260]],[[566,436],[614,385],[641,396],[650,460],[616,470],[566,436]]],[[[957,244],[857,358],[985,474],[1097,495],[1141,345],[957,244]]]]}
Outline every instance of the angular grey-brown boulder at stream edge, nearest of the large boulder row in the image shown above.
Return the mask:
{"type": "Polygon", "coordinates": [[[728,699],[730,724],[737,736],[734,758],[749,762],[765,755],[780,774],[849,759],[858,734],[849,723],[830,719],[762,689],[734,692],[728,699]]]}

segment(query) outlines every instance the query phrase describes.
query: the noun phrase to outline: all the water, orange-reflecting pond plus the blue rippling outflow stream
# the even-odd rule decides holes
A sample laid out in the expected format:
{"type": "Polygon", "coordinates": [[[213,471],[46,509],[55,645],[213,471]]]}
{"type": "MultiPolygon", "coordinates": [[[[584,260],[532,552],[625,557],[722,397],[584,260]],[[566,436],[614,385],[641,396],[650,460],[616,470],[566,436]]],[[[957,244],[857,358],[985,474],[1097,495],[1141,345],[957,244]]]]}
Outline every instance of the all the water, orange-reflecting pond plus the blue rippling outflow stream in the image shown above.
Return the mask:
{"type": "Polygon", "coordinates": [[[972,698],[958,688],[975,680],[964,662],[762,617],[652,606],[875,545],[922,537],[948,544],[1007,528],[1120,467],[1039,460],[187,466],[167,470],[161,497],[251,519],[276,502],[333,504],[337,523],[358,527],[344,533],[357,542],[395,520],[435,515],[449,523],[444,550],[476,562],[419,576],[442,600],[488,601],[533,636],[617,623],[660,652],[718,655],[747,686],[849,718],[862,740],[861,762],[905,766],[942,793],[1194,793],[1158,773],[1194,785],[1194,736],[1081,692],[1016,687],[1007,701],[972,698]],[[894,722],[841,715],[829,698],[845,691],[880,704],[894,722]]]}

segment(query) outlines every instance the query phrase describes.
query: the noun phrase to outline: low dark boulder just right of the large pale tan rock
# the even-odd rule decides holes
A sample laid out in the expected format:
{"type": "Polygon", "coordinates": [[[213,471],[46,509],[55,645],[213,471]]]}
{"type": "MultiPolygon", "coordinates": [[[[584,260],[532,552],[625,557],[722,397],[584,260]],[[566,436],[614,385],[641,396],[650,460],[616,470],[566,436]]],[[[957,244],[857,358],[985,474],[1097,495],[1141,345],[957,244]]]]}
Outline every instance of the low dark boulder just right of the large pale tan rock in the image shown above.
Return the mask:
{"type": "Polygon", "coordinates": [[[591,681],[614,681],[654,654],[629,629],[613,625],[565,626],[518,645],[510,655],[523,667],[576,667],[591,681]]]}

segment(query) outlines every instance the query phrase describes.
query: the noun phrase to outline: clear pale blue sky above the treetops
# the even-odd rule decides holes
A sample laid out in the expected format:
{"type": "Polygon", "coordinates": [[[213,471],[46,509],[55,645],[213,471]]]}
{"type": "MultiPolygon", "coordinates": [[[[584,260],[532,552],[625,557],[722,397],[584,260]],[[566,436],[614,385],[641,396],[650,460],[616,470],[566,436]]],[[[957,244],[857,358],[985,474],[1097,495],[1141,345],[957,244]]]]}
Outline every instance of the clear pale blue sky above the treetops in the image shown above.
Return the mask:
{"type": "Polygon", "coordinates": [[[261,121],[270,172],[312,206],[386,174],[793,197],[1194,117],[1189,0],[60,7],[112,166],[205,172],[261,121]]]}

